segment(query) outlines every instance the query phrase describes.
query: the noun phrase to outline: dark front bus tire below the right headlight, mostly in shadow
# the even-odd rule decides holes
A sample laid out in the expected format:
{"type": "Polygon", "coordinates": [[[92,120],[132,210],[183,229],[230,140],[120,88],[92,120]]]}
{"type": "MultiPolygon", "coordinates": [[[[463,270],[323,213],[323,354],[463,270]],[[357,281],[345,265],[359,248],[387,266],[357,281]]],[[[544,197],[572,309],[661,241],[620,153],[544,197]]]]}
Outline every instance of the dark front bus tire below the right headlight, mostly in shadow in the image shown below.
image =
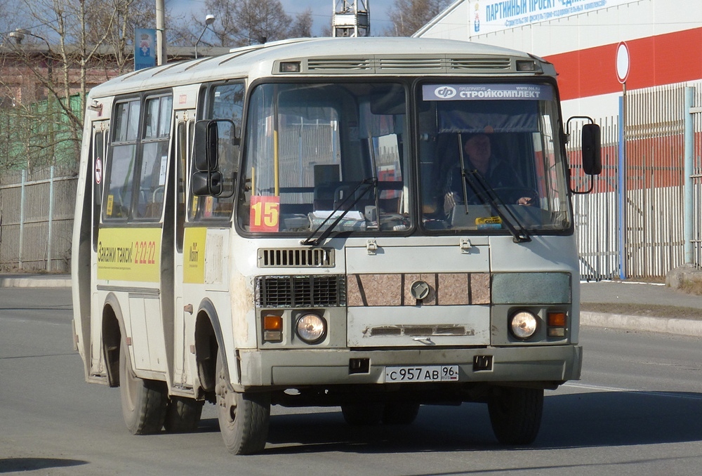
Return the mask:
{"type": "Polygon", "coordinates": [[[543,411],[543,389],[498,387],[488,402],[490,423],[501,444],[531,444],[538,435],[543,411]]]}

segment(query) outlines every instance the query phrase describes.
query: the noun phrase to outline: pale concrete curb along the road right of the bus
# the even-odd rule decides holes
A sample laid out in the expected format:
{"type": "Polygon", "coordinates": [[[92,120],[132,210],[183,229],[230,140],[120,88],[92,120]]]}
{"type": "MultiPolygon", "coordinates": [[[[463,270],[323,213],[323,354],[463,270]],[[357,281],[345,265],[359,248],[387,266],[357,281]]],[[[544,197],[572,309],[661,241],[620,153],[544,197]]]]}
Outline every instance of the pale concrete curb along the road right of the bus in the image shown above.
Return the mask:
{"type": "Polygon", "coordinates": [[[702,337],[702,321],[694,319],[665,319],[663,317],[604,314],[602,312],[580,313],[581,326],[609,327],[628,331],[662,332],[678,336],[702,337]]]}

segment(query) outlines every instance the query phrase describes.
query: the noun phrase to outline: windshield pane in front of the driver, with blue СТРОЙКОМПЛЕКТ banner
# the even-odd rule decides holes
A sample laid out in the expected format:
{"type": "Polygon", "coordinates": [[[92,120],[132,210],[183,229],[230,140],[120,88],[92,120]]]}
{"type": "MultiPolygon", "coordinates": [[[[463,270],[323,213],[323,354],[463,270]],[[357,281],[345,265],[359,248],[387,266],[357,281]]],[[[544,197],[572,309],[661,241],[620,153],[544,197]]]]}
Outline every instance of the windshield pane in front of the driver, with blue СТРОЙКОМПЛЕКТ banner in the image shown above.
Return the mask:
{"type": "Polygon", "coordinates": [[[552,86],[423,84],[417,94],[425,230],[571,229],[552,86]]]}

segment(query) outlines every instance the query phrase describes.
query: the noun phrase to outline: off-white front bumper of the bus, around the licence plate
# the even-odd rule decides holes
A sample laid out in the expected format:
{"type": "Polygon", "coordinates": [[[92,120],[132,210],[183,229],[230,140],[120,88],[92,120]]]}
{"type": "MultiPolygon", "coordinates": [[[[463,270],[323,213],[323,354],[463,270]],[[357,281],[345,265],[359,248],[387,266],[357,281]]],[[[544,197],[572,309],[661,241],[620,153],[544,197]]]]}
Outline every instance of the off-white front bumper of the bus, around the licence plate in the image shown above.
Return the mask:
{"type": "MultiPolygon", "coordinates": [[[[417,350],[240,350],[241,386],[387,383],[390,366],[457,365],[459,382],[549,382],[580,378],[580,345],[417,350]],[[367,360],[366,360],[367,359],[367,360]],[[361,370],[358,364],[361,364],[361,370]],[[367,366],[367,371],[366,371],[367,366]]],[[[388,383],[392,385],[392,383],[388,383]]]]}

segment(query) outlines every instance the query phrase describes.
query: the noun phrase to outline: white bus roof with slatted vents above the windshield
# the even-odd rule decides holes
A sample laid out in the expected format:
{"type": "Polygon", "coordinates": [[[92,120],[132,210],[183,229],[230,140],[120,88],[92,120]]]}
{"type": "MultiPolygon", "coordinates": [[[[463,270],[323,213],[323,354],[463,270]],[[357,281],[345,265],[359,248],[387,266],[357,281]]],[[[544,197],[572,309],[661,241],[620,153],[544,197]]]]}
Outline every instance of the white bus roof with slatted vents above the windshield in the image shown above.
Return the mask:
{"type": "MultiPolygon", "coordinates": [[[[274,76],[416,76],[517,73],[515,61],[536,61],[536,72],[555,75],[549,63],[507,48],[431,38],[304,38],[233,48],[224,55],[168,63],[124,74],[95,86],[91,98],[197,84],[218,79],[274,76]],[[300,62],[282,73],[279,62],[300,62]]],[[[523,72],[521,74],[524,74],[523,72]]],[[[529,75],[533,75],[530,71],[529,75]]]]}

